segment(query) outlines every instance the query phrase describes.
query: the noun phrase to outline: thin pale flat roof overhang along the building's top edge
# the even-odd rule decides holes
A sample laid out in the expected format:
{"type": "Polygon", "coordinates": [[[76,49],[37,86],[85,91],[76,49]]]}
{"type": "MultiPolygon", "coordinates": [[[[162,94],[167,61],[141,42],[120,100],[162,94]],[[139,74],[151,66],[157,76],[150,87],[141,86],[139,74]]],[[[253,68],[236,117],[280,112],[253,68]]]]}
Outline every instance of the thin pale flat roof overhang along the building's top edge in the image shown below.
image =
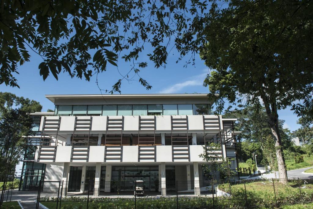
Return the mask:
{"type": "Polygon", "coordinates": [[[110,98],[207,98],[208,94],[68,94],[45,95],[51,102],[56,99],[110,99],[110,98]]]}

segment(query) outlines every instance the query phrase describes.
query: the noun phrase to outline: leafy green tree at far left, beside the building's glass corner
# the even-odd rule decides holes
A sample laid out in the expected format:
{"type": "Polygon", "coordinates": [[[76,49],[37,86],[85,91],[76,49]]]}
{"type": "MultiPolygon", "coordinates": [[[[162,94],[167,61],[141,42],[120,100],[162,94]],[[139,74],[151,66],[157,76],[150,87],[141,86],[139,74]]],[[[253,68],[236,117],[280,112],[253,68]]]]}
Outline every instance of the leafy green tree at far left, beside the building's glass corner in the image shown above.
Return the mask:
{"type": "Polygon", "coordinates": [[[30,112],[41,111],[39,102],[0,92],[0,180],[14,176],[16,163],[29,143],[25,136],[33,135],[30,112]]]}

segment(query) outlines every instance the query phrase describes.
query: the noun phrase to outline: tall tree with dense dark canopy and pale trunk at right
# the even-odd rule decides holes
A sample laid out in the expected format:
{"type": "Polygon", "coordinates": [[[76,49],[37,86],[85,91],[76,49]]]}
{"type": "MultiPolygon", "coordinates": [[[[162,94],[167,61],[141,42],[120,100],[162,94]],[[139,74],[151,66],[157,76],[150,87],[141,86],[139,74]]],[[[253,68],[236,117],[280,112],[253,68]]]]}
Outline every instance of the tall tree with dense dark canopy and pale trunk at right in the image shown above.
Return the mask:
{"type": "Polygon", "coordinates": [[[280,180],[287,182],[278,110],[299,113],[312,102],[313,44],[310,1],[213,1],[198,37],[201,58],[214,69],[204,85],[217,112],[264,105],[275,139],[280,180]],[[226,7],[226,8],[225,8],[226,7]],[[218,94],[218,96],[216,95],[218,94]],[[300,102],[298,102],[300,101],[300,102]],[[301,103],[302,102],[302,103],[301,103]],[[236,106],[237,104],[237,106],[236,106]]]}

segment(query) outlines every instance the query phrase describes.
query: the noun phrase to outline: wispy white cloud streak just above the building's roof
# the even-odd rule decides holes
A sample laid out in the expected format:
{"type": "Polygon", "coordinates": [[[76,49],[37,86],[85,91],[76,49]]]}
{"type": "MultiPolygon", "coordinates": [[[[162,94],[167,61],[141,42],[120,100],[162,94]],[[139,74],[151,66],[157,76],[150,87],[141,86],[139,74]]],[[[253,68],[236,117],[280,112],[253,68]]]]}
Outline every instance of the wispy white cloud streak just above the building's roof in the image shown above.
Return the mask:
{"type": "Polygon", "coordinates": [[[184,81],[181,83],[176,83],[174,85],[168,86],[161,91],[159,91],[160,94],[172,94],[172,93],[177,93],[181,91],[183,88],[187,86],[202,86],[203,81],[205,77],[207,76],[208,69],[203,70],[205,73],[202,73],[197,76],[192,76],[188,81],[184,81]]]}

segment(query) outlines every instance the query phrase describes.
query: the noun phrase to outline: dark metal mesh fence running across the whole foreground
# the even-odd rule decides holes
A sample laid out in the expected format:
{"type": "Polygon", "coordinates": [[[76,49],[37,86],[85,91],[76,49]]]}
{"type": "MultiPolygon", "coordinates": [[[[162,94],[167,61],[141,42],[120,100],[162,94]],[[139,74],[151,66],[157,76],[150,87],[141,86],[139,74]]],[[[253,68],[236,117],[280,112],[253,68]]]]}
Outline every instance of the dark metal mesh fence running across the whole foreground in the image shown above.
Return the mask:
{"type": "Polygon", "coordinates": [[[250,208],[313,202],[313,179],[8,181],[1,208],[250,208]]]}

